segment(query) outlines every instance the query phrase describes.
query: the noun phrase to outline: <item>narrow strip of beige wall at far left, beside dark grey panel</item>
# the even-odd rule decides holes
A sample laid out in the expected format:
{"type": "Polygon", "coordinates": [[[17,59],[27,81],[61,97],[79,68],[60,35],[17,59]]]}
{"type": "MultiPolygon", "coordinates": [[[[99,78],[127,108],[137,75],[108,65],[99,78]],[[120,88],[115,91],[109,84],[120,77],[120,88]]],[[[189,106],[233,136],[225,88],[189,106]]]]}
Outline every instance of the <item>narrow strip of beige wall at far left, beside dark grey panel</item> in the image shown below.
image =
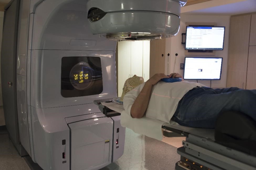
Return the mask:
{"type": "MultiPolygon", "coordinates": [[[[3,32],[3,16],[4,16],[4,12],[0,11],[0,59],[1,59],[2,32],[3,32]]],[[[1,65],[0,65],[0,68],[1,68],[1,65]]],[[[3,126],[3,125],[5,125],[5,121],[4,121],[4,112],[3,112],[1,69],[0,69],[0,126],[3,126]]]]}

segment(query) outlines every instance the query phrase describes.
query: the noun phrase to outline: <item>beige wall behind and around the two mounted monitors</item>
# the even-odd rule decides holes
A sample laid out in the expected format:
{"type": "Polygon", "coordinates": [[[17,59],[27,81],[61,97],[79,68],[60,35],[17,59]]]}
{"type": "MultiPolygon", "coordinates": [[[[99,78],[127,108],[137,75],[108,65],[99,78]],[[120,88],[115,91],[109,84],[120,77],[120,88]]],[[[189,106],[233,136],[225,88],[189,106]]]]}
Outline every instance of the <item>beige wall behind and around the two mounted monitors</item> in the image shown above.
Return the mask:
{"type": "MultiPolygon", "coordinates": [[[[181,44],[181,33],[186,33],[186,22],[213,22],[217,23],[216,26],[226,26],[225,30],[225,38],[224,38],[224,50],[216,50],[213,56],[215,57],[223,57],[222,63],[222,75],[221,80],[212,80],[211,87],[226,87],[227,82],[227,62],[228,62],[228,43],[229,43],[229,25],[230,25],[230,16],[214,16],[214,15],[181,15],[180,22],[180,31],[175,37],[168,38],[167,41],[171,41],[169,47],[171,48],[171,53],[169,57],[169,67],[168,73],[178,72],[183,75],[184,70],[180,70],[180,63],[184,63],[184,57],[187,56],[195,56],[195,55],[185,55],[185,45],[181,44]],[[176,58],[176,64],[174,68],[175,62],[175,54],[178,53],[176,58]]],[[[205,56],[200,54],[197,56],[205,56]]],[[[209,57],[213,57],[209,56],[209,57]]],[[[210,80],[199,80],[198,83],[202,83],[206,86],[210,87],[210,80]]]]}

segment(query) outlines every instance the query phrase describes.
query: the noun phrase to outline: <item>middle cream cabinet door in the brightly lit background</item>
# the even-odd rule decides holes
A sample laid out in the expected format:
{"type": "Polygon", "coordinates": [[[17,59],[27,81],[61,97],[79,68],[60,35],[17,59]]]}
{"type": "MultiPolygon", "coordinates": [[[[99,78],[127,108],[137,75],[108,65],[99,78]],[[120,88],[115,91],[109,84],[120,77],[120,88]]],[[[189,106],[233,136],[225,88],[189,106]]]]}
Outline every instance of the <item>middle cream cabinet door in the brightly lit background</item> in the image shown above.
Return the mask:
{"type": "Polygon", "coordinates": [[[143,41],[131,42],[131,76],[142,76],[143,41]]]}

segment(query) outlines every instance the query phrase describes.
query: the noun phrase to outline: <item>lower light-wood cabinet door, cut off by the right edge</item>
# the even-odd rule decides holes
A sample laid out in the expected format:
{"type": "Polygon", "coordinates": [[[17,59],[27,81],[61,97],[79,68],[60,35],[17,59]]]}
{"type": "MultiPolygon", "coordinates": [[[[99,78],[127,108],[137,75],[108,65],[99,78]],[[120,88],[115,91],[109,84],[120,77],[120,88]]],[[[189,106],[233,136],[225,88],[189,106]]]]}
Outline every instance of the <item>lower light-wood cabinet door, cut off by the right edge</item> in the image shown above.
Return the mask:
{"type": "Polygon", "coordinates": [[[256,89],[256,46],[249,46],[246,89],[256,89]]]}

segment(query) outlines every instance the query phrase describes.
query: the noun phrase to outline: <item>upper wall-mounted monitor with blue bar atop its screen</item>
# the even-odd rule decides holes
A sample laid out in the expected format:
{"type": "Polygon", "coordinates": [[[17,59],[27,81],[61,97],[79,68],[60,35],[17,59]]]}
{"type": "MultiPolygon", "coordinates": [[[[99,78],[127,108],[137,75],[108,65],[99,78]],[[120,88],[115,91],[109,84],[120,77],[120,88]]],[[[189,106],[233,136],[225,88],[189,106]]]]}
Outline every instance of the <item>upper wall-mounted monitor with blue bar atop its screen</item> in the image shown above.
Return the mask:
{"type": "Polygon", "coordinates": [[[223,50],[225,27],[187,26],[185,50],[223,50]]]}

